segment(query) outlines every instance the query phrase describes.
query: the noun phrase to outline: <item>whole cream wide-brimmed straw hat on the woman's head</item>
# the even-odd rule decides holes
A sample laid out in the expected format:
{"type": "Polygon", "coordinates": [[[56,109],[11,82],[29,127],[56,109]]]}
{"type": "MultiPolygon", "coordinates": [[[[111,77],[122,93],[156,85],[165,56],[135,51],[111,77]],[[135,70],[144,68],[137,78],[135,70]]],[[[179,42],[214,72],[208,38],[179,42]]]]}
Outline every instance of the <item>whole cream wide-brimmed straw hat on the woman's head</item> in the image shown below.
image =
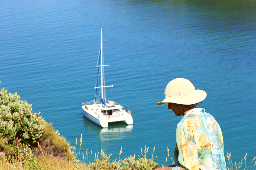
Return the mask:
{"type": "Polygon", "coordinates": [[[203,101],[206,93],[203,90],[195,90],[193,84],[185,78],[176,78],[170,81],[164,91],[165,99],[156,105],[164,103],[177,103],[192,105],[203,101]]]}

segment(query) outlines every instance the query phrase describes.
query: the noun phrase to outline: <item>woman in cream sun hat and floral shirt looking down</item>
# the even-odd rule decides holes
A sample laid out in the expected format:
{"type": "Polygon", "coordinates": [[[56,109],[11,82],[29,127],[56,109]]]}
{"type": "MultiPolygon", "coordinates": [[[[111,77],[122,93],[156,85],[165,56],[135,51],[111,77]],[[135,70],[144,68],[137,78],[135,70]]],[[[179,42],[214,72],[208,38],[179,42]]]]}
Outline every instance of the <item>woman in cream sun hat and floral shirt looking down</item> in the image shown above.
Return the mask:
{"type": "Polygon", "coordinates": [[[183,116],[176,129],[175,165],[156,170],[226,170],[223,137],[214,117],[197,104],[206,92],[195,90],[184,78],[177,78],[165,88],[165,99],[156,105],[168,104],[176,116],[183,116]]]}

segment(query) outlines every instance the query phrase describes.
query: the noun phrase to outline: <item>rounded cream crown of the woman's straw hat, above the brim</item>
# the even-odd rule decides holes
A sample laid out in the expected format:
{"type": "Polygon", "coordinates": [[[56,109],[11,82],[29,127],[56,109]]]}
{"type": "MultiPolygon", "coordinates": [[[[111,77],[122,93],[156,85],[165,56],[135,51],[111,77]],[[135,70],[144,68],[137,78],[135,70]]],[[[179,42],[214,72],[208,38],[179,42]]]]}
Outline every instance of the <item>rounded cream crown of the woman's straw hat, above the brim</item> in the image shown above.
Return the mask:
{"type": "Polygon", "coordinates": [[[164,95],[168,97],[181,96],[193,93],[194,91],[195,87],[189,80],[176,78],[167,84],[164,95]]]}

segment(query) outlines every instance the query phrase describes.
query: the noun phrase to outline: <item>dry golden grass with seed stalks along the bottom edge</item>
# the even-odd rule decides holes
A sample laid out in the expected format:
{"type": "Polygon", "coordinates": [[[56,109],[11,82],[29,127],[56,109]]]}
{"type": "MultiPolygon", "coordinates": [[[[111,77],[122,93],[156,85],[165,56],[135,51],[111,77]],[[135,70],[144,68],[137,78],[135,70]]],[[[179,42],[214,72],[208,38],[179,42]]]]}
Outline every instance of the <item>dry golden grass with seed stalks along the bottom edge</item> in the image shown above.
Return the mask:
{"type": "MultiPolygon", "coordinates": [[[[0,143],[4,143],[5,140],[2,139],[0,143]]],[[[76,139],[77,144],[77,139],[76,139]]],[[[82,145],[82,135],[80,137],[80,144],[79,144],[79,151],[76,150],[76,146],[73,147],[74,156],[73,159],[63,159],[63,157],[56,157],[53,154],[45,154],[42,146],[38,143],[38,157],[34,157],[32,151],[30,152],[28,157],[25,159],[14,159],[11,157],[7,157],[0,153],[0,170],[53,170],[53,169],[61,169],[61,170],[154,170],[158,168],[159,164],[154,162],[155,147],[151,152],[151,158],[147,158],[147,153],[149,152],[149,147],[145,146],[144,151],[141,149],[141,155],[138,155],[138,159],[136,160],[136,155],[129,156],[124,160],[120,159],[122,154],[122,147],[120,149],[119,158],[115,158],[111,160],[111,154],[107,155],[102,150],[98,153],[88,152],[80,153],[82,145]],[[78,151],[78,152],[76,152],[78,151]]],[[[170,164],[169,158],[169,148],[167,147],[167,156],[166,157],[166,165],[170,164]],[[168,164],[167,164],[168,161],[168,164]]],[[[227,168],[228,170],[238,170],[244,166],[244,170],[254,170],[256,165],[256,157],[251,161],[251,163],[247,166],[247,153],[245,157],[235,164],[232,163],[231,153],[227,152],[226,155],[227,161],[227,168]]],[[[24,158],[24,157],[23,157],[24,158]]],[[[173,159],[171,158],[173,161],[173,159]]],[[[174,164],[174,162],[172,162],[174,164]]],[[[161,165],[162,166],[162,165],[161,165]]],[[[242,168],[243,169],[243,168],[242,168]]]]}

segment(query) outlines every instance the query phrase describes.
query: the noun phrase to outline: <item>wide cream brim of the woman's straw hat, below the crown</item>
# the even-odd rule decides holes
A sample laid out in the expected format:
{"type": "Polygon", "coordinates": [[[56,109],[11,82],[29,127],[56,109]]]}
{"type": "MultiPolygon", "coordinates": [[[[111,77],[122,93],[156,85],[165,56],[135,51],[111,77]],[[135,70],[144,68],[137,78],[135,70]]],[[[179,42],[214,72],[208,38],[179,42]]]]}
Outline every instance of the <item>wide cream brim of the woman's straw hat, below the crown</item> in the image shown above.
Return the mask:
{"type": "Polygon", "coordinates": [[[165,103],[176,103],[181,105],[192,105],[203,101],[206,98],[206,92],[203,90],[195,90],[193,93],[180,95],[180,96],[166,96],[162,102],[156,103],[156,105],[162,105],[165,103]]]}

